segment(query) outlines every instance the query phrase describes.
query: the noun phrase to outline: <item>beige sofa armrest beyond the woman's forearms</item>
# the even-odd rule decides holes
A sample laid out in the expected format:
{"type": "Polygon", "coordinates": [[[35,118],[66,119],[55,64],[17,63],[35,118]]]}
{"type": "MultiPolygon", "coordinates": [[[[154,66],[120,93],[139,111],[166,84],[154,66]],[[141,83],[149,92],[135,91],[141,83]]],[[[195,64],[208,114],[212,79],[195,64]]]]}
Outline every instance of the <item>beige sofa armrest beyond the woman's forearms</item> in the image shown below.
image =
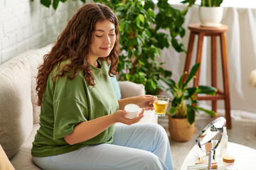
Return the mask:
{"type": "Polygon", "coordinates": [[[129,98],[133,96],[141,96],[145,94],[143,84],[136,84],[132,81],[118,81],[122,98],[129,98]]]}

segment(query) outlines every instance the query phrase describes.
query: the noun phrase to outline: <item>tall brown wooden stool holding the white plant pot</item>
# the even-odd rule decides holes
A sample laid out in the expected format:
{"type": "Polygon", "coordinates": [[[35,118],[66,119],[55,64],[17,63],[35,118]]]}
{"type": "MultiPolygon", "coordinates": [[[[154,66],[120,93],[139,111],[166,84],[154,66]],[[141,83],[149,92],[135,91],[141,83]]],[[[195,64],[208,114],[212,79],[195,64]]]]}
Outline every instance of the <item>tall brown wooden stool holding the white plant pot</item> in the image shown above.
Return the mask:
{"type": "MultiPolygon", "coordinates": [[[[227,128],[231,129],[232,125],[231,125],[231,116],[230,116],[230,90],[229,90],[229,81],[228,81],[228,52],[227,52],[226,35],[225,35],[225,32],[228,30],[228,26],[222,25],[217,28],[212,28],[212,27],[201,27],[200,23],[192,23],[188,25],[188,29],[191,30],[191,34],[188,42],[188,55],[186,57],[184,72],[189,72],[195,36],[198,35],[196,63],[201,62],[204,36],[210,36],[211,38],[211,86],[215,87],[216,89],[218,89],[217,88],[217,47],[216,46],[217,46],[217,36],[220,36],[224,91],[220,91],[218,89],[218,92],[215,96],[198,96],[198,100],[212,101],[212,109],[215,112],[217,111],[217,100],[224,100],[227,128]]],[[[194,80],[193,86],[198,86],[199,84],[200,68],[196,73],[196,77],[197,79],[194,80]]]]}

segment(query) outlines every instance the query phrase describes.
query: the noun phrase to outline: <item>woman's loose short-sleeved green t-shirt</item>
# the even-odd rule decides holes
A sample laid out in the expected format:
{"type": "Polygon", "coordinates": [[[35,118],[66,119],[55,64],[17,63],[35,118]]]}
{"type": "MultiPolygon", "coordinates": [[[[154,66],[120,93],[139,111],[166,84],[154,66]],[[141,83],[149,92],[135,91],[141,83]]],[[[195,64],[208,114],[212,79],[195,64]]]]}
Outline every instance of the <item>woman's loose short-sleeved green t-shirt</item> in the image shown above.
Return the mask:
{"type": "Polygon", "coordinates": [[[68,77],[58,77],[53,83],[50,77],[55,71],[48,77],[42,98],[40,128],[31,149],[34,157],[64,154],[87,145],[112,142],[114,125],[96,137],[75,145],[69,145],[63,138],[73,132],[75,125],[110,115],[119,109],[108,76],[107,63],[103,62],[101,69],[92,66],[91,69],[95,87],[87,84],[81,71],[71,80],[68,77]]]}

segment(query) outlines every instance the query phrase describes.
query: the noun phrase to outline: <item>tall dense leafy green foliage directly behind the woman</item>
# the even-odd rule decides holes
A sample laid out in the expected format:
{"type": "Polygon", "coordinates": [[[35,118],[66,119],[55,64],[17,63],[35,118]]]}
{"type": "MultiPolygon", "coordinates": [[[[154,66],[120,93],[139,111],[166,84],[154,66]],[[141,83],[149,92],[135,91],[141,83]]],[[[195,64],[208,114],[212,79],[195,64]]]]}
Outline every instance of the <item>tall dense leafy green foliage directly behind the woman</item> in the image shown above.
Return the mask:
{"type": "Polygon", "coordinates": [[[170,78],[171,72],[163,69],[164,63],[157,62],[156,57],[161,57],[161,50],[170,45],[177,52],[186,51],[180,38],[185,35],[182,25],[188,8],[179,11],[163,0],[157,4],[151,0],[103,2],[119,18],[119,80],[144,84],[146,94],[161,93],[159,79],[170,78]],[[159,10],[155,10],[156,5],[159,10]]]}

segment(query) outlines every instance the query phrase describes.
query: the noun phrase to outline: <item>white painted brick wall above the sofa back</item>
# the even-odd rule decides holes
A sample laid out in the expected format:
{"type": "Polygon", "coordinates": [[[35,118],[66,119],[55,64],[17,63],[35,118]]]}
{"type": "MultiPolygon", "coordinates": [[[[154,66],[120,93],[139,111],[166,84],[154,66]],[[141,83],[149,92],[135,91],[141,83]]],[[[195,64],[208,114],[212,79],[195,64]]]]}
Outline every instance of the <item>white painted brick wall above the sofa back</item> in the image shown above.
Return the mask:
{"type": "Polygon", "coordinates": [[[80,1],[60,2],[55,11],[39,0],[0,0],[0,64],[55,42],[80,6],[80,1]]]}

